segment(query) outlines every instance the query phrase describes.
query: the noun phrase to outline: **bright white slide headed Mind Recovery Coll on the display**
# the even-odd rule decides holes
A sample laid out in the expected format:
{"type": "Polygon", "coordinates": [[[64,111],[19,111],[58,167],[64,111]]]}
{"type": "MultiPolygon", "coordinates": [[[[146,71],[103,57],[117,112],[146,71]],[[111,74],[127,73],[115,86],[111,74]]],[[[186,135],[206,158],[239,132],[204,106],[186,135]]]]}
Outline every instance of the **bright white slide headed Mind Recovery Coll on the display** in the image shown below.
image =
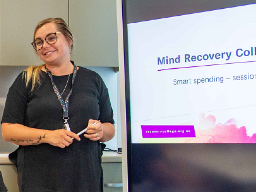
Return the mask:
{"type": "Polygon", "coordinates": [[[255,16],[251,4],[128,24],[132,143],[256,142],[255,16]]]}

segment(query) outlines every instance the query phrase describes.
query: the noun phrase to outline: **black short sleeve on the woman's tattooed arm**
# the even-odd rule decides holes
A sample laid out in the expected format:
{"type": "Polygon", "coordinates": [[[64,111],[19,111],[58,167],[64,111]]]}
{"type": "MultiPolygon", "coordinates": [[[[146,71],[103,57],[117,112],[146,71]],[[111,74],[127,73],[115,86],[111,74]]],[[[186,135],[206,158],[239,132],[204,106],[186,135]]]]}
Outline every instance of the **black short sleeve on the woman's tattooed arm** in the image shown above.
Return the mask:
{"type": "Polygon", "coordinates": [[[25,124],[25,113],[28,102],[28,89],[22,78],[22,73],[9,88],[4,106],[1,123],[25,124]]]}

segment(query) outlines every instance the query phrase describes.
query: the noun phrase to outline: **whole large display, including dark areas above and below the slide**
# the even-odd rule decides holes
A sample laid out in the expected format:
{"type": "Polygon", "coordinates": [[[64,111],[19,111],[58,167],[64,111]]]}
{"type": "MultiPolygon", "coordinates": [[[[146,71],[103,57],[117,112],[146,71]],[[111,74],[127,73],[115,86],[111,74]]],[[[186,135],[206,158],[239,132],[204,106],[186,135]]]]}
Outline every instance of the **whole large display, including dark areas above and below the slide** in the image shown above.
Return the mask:
{"type": "Polygon", "coordinates": [[[255,3],[123,1],[129,191],[255,191],[255,3]]]}

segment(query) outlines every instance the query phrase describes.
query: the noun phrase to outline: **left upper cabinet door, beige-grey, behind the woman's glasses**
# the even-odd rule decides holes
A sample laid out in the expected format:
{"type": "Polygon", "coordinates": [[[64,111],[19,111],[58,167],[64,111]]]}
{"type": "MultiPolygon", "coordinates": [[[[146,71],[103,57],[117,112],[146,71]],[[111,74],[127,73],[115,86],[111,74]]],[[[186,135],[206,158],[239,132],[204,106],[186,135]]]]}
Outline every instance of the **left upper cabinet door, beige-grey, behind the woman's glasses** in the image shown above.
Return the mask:
{"type": "Polygon", "coordinates": [[[1,0],[0,65],[40,64],[31,42],[37,23],[49,17],[68,22],[68,0],[1,0]]]}

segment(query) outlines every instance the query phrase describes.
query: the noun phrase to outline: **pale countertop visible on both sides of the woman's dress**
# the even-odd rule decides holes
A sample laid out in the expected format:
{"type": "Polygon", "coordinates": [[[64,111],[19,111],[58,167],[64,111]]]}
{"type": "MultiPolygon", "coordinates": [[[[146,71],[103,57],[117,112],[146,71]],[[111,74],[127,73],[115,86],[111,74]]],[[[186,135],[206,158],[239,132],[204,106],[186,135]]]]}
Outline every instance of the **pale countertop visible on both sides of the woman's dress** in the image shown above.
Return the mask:
{"type": "MultiPolygon", "coordinates": [[[[9,154],[0,154],[0,164],[13,164],[9,158],[9,154]]],[[[113,151],[103,151],[102,163],[122,163],[122,154],[113,151]]]]}

